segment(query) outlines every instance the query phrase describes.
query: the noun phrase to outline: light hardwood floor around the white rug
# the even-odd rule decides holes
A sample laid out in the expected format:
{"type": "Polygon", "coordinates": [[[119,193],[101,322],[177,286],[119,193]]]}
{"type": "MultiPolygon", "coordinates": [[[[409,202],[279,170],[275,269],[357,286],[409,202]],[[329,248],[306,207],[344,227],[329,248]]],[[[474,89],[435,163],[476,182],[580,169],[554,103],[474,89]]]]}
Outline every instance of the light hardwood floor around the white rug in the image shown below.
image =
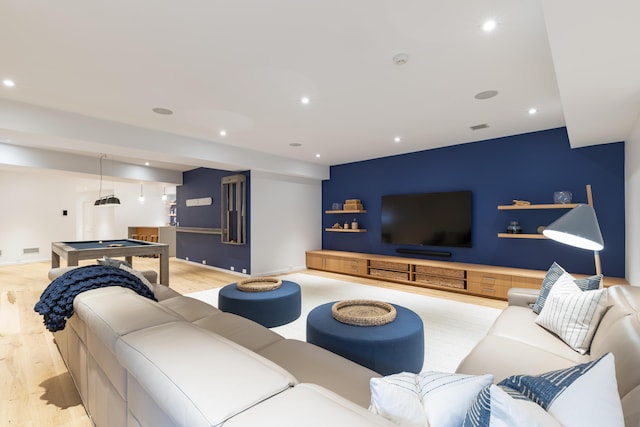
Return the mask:
{"type": "MultiPolygon", "coordinates": [[[[157,270],[158,261],[135,257],[134,267],[157,270]]],[[[53,335],[44,327],[42,316],[33,310],[49,284],[49,268],[48,262],[0,267],[0,424],[89,427],[91,423],[58,353],[53,335]]],[[[183,294],[221,287],[240,278],[176,259],[170,260],[169,271],[171,287],[183,294]]],[[[379,280],[314,270],[306,273],[494,308],[506,306],[503,301],[379,280]]]]}

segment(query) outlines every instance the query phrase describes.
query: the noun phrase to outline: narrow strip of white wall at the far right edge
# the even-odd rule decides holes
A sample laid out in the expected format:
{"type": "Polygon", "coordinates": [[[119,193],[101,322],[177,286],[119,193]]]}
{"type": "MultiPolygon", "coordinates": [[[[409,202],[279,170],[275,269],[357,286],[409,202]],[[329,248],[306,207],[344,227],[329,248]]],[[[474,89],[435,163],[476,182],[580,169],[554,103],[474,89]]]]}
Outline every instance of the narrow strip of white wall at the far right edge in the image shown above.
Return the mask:
{"type": "Polygon", "coordinates": [[[626,278],[640,286],[640,120],[625,142],[626,278]]]}

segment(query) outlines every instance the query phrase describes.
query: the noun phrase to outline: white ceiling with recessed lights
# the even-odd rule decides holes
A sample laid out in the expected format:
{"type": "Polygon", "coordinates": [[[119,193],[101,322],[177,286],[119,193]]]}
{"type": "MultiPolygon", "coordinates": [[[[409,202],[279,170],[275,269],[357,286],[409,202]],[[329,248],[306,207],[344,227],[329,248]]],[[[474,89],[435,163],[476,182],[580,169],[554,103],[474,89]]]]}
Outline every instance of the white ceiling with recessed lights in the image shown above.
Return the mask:
{"type": "Polygon", "coordinates": [[[639,21],[637,0],[2,0],[0,142],[188,170],[326,169],[565,125],[573,147],[621,141],[639,21]]]}

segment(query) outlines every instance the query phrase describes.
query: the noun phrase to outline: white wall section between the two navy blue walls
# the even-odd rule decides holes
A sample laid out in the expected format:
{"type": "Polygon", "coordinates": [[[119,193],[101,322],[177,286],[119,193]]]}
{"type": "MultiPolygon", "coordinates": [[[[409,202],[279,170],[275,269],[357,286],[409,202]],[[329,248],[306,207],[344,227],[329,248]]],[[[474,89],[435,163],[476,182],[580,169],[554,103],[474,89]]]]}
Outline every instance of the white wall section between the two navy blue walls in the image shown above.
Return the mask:
{"type": "Polygon", "coordinates": [[[251,172],[251,273],[303,269],[322,246],[322,182],[251,172]]]}

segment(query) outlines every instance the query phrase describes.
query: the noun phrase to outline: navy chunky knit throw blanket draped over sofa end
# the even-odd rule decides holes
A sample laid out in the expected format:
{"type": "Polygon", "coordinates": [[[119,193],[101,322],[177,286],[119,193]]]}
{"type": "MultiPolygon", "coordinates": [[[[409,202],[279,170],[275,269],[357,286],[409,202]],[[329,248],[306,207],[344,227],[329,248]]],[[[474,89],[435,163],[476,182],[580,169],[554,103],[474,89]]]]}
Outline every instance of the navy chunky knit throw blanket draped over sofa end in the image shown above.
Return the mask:
{"type": "Polygon", "coordinates": [[[143,297],[157,301],[153,292],[135,275],[108,265],[88,265],[67,271],[47,286],[34,310],[44,316],[51,332],[64,329],[73,315],[73,299],[80,292],[105,286],[129,288],[143,297]]]}

